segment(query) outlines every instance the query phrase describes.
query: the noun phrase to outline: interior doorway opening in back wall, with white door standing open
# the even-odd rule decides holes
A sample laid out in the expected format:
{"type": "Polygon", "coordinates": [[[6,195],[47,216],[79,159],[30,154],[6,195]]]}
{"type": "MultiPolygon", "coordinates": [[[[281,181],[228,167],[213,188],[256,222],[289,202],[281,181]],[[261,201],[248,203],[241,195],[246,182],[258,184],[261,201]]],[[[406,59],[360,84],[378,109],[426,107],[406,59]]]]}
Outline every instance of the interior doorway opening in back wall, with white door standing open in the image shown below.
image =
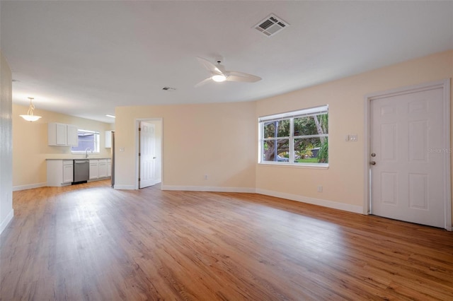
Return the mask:
{"type": "Polygon", "coordinates": [[[162,179],[162,121],[139,120],[137,131],[137,189],[142,189],[158,184],[162,179]]]}

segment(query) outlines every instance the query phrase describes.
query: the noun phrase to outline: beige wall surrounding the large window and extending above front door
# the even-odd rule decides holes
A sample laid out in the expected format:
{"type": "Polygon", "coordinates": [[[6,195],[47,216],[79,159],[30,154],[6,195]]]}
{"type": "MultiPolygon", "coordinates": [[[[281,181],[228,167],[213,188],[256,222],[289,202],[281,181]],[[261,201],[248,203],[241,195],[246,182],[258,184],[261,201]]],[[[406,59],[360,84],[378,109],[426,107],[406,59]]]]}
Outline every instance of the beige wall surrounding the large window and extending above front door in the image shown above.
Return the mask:
{"type": "Polygon", "coordinates": [[[365,95],[452,77],[449,51],[258,101],[256,117],[329,105],[329,167],[256,165],[257,191],[322,199],[360,211],[365,199],[365,95]],[[346,134],[358,134],[358,141],[345,142],[346,134]],[[318,185],[323,192],[317,192],[318,185]]]}

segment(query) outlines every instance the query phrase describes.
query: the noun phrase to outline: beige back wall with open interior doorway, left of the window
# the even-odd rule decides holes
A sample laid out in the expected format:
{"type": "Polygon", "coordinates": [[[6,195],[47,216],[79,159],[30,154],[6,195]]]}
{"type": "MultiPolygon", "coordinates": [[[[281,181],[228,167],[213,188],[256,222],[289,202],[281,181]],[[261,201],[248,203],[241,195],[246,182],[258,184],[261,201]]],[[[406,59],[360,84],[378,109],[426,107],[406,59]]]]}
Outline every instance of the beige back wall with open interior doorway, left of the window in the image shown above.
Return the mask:
{"type": "Polygon", "coordinates": [[[115,187],[134,189],[136,185],[137,119],[162,118],[164,188],[254,189],[255,105],[239,102],[117,107],[115,187]]]}

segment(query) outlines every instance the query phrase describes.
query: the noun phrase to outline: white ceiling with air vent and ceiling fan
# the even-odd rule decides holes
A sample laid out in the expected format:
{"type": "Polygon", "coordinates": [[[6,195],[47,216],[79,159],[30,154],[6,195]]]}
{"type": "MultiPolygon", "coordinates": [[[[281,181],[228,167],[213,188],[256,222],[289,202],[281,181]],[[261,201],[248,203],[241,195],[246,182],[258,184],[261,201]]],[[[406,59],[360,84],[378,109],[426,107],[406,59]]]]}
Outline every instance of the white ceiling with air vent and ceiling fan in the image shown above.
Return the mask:
{"type": "Polygon", "coordinates": [[[128,105],[258,100],[453,49],[453,1],[1,1],[13,102],[103,122],[128,105]],[[253,29],[274,13],[289,27],[253,29]],[[222,56],[257,83],[194,85],[222,56]],[[164,87],[176,90],[162,90],[164,87]]]}

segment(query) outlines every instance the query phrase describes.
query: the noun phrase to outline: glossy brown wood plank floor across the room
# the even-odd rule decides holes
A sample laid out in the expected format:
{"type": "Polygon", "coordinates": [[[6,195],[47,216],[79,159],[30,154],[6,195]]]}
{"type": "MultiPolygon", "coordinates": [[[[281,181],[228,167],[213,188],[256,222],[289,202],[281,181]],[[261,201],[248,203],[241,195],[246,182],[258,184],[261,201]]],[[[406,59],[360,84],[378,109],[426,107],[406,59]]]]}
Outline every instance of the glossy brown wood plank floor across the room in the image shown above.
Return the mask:
{"type": "Polygon", "coordinates": [[[453,233],[259,194],[13,193],[0,300],[453,300],[453,233]]]}

